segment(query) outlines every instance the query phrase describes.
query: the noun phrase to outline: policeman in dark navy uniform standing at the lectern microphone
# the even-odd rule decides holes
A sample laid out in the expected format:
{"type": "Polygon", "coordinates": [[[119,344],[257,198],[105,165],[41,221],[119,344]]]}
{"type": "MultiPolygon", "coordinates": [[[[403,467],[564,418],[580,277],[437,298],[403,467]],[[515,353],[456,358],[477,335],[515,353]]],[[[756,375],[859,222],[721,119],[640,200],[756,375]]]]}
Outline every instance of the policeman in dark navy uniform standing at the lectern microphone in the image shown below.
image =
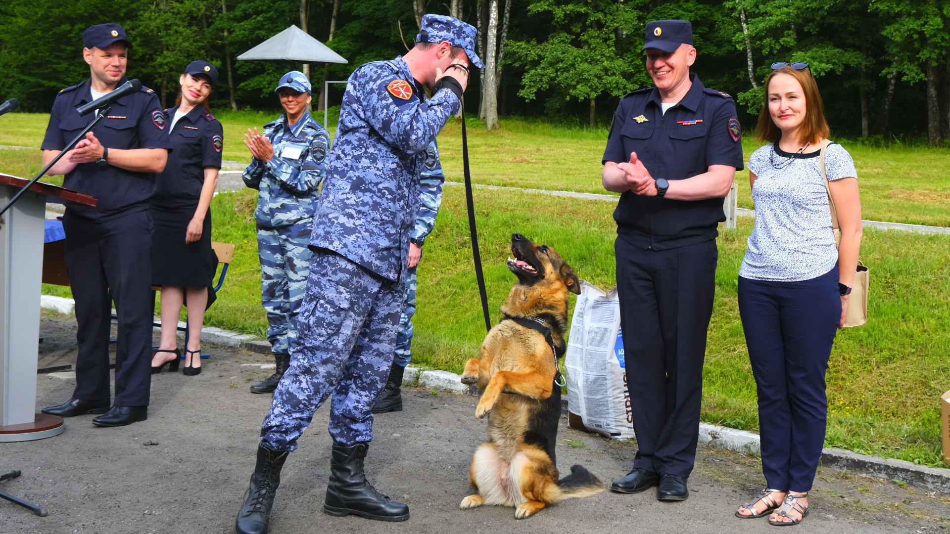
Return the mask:
{"type": "MultiPolygon", "coordinates": [[[[83,33],[83,58],[90,77],[56,96],[43,140],[43,163],[51,162],[94,114],[76,107],[125,83],[126,50],[118,24],[83,33]]],[[[151,173],[161,172],[172,144],[155,93],[148,88],[111,105],[94,131],[66,153],[50,175],[66,175],[66,188],[88,193],[95,206],[66,204],[66,273],[76,299],[79,355],[76,390],[60,406],[44,409],[63,417],[104,413],[100,427],[143,421],[148,414],[152,359],[151,173]],[[119,315],[115,402],[109,408],[109,331],[112,303],[119,315]]]]}

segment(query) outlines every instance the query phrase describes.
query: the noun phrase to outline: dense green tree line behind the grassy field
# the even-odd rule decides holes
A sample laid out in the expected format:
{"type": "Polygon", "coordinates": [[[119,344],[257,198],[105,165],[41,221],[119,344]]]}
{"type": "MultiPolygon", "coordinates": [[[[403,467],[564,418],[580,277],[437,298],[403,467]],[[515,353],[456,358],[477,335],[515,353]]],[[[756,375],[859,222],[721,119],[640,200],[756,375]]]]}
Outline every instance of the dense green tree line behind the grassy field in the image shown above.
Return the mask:
{"type": "MultiPolygon", "coordinates": [[[[609,124],[626,92],[650,86],[640,48],[651,20],[693,23],[705,86],[736,97],[754,124],[762,81],[776,61],[805,61],[836,135],[950,140],[950,0],[4,0],[0,97],[48,111],[56,92],[85,80],[88,26],[117,22],[133,49],[129,76],[171,105],[190,61],[218,66],[218,107],[276,109],[277,77],[304,70],[322,109],[323,82],[412,47],[422,16],[450,14],[478,28],[485,69],[466,113],[488,128],[505,115],[609,124]],[[291,25],[346,65],[237,61],[291,25]]],[[[330,89],[338,104],[343,86],[330,89]]]]}

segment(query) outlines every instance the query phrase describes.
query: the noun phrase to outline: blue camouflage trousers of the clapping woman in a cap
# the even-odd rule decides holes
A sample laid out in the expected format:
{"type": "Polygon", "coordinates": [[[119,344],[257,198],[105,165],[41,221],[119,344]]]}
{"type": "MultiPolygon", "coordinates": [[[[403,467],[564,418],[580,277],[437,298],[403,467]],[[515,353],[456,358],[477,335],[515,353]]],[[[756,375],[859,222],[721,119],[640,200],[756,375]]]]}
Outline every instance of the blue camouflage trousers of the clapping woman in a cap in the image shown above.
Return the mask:
{"type": "Polygon", "coordinates": [[[289,354],[297,338],[297,313],[307,289],[313,219],[279,228],[257,227],[260,303],[267,312],[272,353],[289,354]]]}

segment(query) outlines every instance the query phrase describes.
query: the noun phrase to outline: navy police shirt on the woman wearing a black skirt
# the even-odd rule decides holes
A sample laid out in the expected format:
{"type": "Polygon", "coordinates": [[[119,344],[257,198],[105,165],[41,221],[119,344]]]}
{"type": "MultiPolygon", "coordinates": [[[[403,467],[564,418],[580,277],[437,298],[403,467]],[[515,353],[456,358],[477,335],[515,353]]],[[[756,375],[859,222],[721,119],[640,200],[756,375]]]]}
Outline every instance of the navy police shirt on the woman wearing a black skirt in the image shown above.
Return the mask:
{"type": "MultiPolygon", "coordinates": [[[[165,129],[171,127],[179,106],[164,110],[165,129]]],[[[197,206],[204,185],[204,167],[221,168],[224,132],[218,119],[197,105],[168,132],[174,148],[165,170],[155,175],[152,203],[167,208],[197,206]]]]}

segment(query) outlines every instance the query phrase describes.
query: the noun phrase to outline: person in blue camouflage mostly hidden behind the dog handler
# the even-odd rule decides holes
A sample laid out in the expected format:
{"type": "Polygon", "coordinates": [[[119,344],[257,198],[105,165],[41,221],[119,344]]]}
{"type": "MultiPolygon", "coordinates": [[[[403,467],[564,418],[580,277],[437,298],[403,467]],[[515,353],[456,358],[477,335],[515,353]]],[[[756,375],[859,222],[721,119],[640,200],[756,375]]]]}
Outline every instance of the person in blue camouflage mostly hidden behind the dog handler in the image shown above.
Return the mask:
{"type": "Polygon", "coordinates": [[[422,259],[422,246],[435,226],[442,204],[442,186],[446,175],[439,161],[439,145],[433,140],[426,149],[426,163],[419,179],[419,215],[416,216],[412,238],[409,238],[409,278],[406,280],[406,297],[403,299],[403,315],[399,318],[399,334],[396,334],[395,357],[392,360],[390,379],[386,388],[372,407],[373,413],[403,410],[403,373],[412,361],[412,315],[415,315],[416,268],[422,259]]]}

